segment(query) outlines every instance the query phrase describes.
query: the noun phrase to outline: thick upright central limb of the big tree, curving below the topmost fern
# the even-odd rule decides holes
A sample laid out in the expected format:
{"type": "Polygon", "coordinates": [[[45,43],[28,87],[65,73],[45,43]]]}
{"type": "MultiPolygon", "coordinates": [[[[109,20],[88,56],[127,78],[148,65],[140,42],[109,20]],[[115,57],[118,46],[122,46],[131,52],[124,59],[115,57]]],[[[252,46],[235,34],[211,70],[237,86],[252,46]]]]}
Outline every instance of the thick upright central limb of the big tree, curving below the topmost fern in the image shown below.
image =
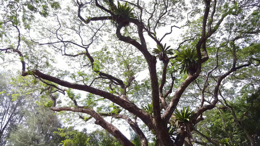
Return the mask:
{"type": "Polygon", "coordinates": [[[144,29],[143,24],[139,20],[134,18],[128,18],[125,19],[124,21],[132,22],[135,25],[137,25],[141,44],[137,42],[135,39],[132,39],[131,37],[122,36],[120,30],[123,26],[121,24],[119,24],[119,26],[117,27],[117,31],[116,31],[117,37],[119,38],[119,40],[135,46],[143,54],[143,56],[145,57],[148,63],[150,79],[152,81],[153,113],[154,113],[154,121],[156,126],[155,132],[157,134],[157,137],[161,140],[162,145],[170,146],[171,140],[170,140],[170,136],[168,135],[167,122],[162,121],[160,115],[160,97],[159,97],[158,78],[156,72],[156,57],[151,55],[146,48],[146,42],[143,37],[143,29],[144,29]]]}

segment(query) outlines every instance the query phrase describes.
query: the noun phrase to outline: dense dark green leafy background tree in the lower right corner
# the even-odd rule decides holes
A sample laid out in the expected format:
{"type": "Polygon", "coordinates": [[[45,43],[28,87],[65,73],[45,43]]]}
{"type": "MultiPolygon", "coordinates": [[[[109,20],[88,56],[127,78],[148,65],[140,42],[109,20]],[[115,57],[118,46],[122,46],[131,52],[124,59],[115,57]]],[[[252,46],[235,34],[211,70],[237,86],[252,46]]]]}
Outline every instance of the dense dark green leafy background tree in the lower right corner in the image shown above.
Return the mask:
{"type": "Polygon", "coordinates": [[[215,110],[207,111],[206,118],[198,125],[200,136],[197,138],[207,141],[208,137],[220,142],[225,140],[228,146],[249,146],[259,144],[259,100],[260,90],[250,90],[244,86],[239,97],[234,101],[224,100],[215,110]],[[254,92],[248,95],[249,92],[254,92]],[[216,120],[216,117],[217,120],[216,120]]]}

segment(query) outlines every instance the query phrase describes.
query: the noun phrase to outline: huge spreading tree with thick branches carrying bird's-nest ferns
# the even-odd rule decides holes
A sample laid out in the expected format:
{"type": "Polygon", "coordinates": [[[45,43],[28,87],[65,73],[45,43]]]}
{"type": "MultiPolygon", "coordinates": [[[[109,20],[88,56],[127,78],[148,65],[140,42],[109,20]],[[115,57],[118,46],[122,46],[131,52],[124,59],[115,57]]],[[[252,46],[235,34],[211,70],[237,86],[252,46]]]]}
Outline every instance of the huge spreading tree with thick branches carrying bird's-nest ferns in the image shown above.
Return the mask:
{"type": "Polygon", "coordinates": [[[107,122],[111,117],[128,124],[142,146],[148,146],[147,129],[160,146],[191,146],[190,132],[220,103],[225,83],[260,85],[258,0],[11,0],[1,7],[4,62],[14,58],[6,54],[19,55],[21,75],[45,84],[51,110],[77,112],[124,146],[133,144],[115,122],[107,122]],[[185,32],[170,40],[177,29],[185,32]],[[160,52],[152,49],[156,45],[160,52]],[[55,55],[70,69],[54,65],[55,55]],[[149,77],[138,79],[145,69],[149,77]],[[54,92],[71,102],[62,106],[54,92]],[[141,108],[151,102],[152,114],[141,108]],[[192,128],[170,136],[178,106],[194,110],[192,128]]]}

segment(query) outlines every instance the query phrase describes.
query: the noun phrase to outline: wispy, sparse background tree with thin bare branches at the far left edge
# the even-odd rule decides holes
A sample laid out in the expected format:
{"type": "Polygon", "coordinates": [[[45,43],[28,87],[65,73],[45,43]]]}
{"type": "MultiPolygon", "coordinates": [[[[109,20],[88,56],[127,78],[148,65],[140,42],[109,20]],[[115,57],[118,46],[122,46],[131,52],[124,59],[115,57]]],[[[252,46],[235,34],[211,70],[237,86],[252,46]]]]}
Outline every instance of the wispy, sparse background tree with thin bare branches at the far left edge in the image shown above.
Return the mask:
{"type": "Polygon", "coordinates": [[[16,129],[17,124],[25,119],[24,110],[28,104],[26,97],[15,93],[14,87],[8,82],[10,78],[1,72],[0,74],[0,145],[4,146],[5,138],[16,129]]]}

